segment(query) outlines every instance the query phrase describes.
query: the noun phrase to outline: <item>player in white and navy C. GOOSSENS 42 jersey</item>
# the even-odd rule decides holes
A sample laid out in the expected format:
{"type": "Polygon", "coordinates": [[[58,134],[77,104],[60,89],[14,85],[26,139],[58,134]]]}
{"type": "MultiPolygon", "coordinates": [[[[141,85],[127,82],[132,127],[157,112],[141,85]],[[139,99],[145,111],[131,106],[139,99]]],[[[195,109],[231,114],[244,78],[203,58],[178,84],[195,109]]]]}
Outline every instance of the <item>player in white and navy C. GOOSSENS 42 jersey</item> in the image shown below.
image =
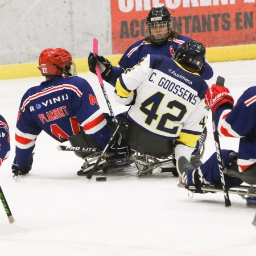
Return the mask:
{"type": "Polygon", "coordinates": [[[151,139],[155,135],[176,143],[176,158],[190,158],[195,151],[209,113],[204,103],[208,85],[197,74],[204,61],[203,44],[189,40],[177,48],[174,59],[146,55],[117,80],[115,100],[133,105],[128,113],[129,129],[133,124],[146,130],[155,151],[163,147],[151,139]]]}

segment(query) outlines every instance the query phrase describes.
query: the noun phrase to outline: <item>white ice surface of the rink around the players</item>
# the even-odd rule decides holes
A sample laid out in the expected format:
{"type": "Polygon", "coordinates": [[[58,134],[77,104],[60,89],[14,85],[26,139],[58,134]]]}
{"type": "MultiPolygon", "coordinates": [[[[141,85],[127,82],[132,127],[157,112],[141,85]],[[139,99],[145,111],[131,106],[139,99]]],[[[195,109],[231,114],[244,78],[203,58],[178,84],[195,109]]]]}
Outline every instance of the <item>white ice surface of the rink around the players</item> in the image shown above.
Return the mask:
{"type": "MultiPolygon", "coordinates": [[[[225,77],[235,101],[256,85],[256,60],[212,63],[212,85],[225,77]]],[[[80,76],[92,84],[104,112],[108,107],[97,77],[80,76]]],[[[15,218],[9,224],[0,205],[0,256],[220,256],[253,255],[256,209],[230,195],[225,208],[222,193],[195,194],[178,188],[170,173],[135,177],[136,170],[111,174],[106,182],[77,176],[82,159],[58,151],[60,144],[45,133],[36,141],[29,175],[13,180],[15,122],[20,100],[43,77],[0,81],[0,113],[10,126],[11,155],[0,170],[0,185],[15,218]]],[[[114,113],[127,109],[115,103],[113,87],[105,84],[114,113]]],[[[207,123],[204,159],[215,151],[211,115],[207,123]]],[[[65,143],[64,143],[65,144],[65,143]]],[[[67,143],[68,145],[68,143],[67,143]]],[[[238,139],[221,138],[222,148],[237,150],[238,139]]]]}

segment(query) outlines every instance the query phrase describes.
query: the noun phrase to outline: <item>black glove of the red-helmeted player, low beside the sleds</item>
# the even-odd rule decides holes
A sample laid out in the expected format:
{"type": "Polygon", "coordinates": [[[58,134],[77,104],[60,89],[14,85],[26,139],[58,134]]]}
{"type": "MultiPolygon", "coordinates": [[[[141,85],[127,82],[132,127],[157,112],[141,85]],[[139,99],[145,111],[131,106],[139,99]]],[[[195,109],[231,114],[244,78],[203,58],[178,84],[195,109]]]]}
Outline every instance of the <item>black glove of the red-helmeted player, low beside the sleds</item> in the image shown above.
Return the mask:
{"type": "Polygon", "coordinates": [[[109,150],[106,152],[106,160],[108,162],[117,161],[128,158],[131,154],[131,149],[122,134],[117,131],[114,135],[112,143],[109,145],[109,150]]]}

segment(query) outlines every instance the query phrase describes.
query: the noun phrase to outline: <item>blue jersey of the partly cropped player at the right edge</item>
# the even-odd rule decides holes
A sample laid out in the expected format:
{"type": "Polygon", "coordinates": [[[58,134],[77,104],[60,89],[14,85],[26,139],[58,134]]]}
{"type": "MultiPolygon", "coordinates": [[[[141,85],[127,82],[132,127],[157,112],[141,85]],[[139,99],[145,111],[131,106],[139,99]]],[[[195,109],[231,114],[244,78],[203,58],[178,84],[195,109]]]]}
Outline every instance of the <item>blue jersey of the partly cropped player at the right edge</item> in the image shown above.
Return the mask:
{"type": "Polygon", "coordinates": [[[237,161],[240,171],[256,163],[256,86],[245,90],[232,110],[218,108],[216,120],[221,136],[240,138],[237,161]]]}

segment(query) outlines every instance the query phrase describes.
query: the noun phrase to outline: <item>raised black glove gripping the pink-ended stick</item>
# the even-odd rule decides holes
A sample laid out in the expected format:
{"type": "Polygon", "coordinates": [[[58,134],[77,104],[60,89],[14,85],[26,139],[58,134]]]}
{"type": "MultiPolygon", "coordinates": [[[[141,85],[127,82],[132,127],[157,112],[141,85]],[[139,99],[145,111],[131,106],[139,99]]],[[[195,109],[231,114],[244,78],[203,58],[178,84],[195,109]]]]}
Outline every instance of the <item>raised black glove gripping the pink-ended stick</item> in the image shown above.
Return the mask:
{"type": "Polygon", "coordinates": [[[99,56],[97,54],[94,56],[93,53],[90,52],[88,56],[88,65],[90,72],[94,73],[95,75],[97,61],[100,66],[102,79],[104,79],[106,82],[109,82],[112,78],[112,63],[109,60],[105,59],[103,56],[99,56]]]}

